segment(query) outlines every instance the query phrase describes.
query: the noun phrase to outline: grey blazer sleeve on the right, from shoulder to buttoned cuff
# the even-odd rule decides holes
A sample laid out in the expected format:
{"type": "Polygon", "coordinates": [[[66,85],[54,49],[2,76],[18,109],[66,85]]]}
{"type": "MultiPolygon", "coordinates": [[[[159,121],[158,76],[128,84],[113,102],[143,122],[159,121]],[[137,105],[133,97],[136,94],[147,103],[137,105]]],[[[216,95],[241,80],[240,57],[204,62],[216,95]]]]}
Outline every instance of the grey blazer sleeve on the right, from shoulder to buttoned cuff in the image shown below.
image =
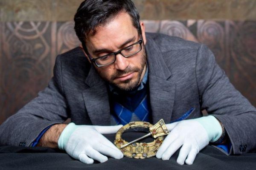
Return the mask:
{"type": "Polygon", "coordinates": [[[256,108],[233,87],[205,45],[198,48],[196,77],[201,108],[223,123],[233,153],[255,150],[256,108]]]}

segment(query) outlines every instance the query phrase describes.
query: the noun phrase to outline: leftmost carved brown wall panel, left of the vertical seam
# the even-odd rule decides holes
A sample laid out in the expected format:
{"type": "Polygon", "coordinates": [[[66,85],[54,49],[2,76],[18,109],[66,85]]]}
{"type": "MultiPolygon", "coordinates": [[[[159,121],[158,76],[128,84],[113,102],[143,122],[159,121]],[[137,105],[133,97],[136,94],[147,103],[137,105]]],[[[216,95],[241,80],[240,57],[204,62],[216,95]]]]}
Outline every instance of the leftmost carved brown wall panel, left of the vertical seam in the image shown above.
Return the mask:
{"type": "Polygon", "coordinates": [[[46,87],[51,76],[50,22],[1,23],[3,122],[46,87]]]}

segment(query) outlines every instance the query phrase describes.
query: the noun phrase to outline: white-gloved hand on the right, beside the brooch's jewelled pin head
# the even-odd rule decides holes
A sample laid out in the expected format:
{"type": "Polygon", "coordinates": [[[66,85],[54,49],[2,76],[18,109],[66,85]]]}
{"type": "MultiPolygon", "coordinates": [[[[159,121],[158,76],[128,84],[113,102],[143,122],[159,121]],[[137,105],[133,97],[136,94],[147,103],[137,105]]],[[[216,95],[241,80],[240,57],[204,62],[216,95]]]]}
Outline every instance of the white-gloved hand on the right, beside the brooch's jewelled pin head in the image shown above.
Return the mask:
{"type": "Polygon", "coordinates": [[[222,134],[221,124],[214,116],[183,120],[166,124],[170,131],[157,151],[156,157],[169,160],[181,147],[177,163],[193,164],[195,156],[209,142],[217,141],[222,134]]]}

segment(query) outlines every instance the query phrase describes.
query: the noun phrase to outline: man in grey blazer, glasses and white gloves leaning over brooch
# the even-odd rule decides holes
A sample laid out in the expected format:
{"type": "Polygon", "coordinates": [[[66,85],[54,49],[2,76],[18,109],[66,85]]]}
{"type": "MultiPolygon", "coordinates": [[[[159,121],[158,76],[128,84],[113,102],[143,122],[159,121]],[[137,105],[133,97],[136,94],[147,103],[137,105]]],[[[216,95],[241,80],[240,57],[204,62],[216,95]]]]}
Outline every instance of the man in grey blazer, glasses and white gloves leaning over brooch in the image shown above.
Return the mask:
{"type": "Polygon", "coordinates": [[[56,58],[48,87],[1,125],[0,144],[58,147],[92,164],[123,157],[102,134],[163,118],[171,132],[159,159],[181,147],[177,163],[192,164],[209,142],[229,154],[256,148],[256,109],[207,47],[146,34],[131,0],[85,0],[74,20],[82,48],[56,58]]]}

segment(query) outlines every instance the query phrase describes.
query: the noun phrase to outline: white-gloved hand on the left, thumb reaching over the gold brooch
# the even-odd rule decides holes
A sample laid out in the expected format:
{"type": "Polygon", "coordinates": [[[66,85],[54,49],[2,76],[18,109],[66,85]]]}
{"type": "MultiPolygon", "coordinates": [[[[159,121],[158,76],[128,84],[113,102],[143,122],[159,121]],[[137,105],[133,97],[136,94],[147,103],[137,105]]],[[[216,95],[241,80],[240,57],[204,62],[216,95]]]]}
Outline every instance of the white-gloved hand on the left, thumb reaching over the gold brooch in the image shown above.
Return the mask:
{"type": "Polygon", "coordinates": [[[122,152],[102,135],[116,133],[121,127],[122,125],[93,126],[70,123],[62,131],[58,147],[85,164],[92,164],[93,159],[105,162],[108,160],[107,156],[121,159],[122,152]]]}

